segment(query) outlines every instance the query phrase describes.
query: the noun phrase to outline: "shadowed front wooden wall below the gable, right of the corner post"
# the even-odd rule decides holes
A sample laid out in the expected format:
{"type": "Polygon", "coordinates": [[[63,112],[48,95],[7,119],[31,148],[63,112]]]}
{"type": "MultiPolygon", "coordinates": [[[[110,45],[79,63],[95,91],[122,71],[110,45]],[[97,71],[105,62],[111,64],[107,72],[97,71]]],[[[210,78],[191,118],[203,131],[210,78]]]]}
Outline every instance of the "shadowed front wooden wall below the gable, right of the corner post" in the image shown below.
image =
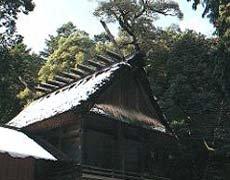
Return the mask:
{"type": "Polygon", "coordinates": [[[84,119],[82,163],[121,172],[165,175],[176,141],[162,132],[91,113],[84,119]]]}

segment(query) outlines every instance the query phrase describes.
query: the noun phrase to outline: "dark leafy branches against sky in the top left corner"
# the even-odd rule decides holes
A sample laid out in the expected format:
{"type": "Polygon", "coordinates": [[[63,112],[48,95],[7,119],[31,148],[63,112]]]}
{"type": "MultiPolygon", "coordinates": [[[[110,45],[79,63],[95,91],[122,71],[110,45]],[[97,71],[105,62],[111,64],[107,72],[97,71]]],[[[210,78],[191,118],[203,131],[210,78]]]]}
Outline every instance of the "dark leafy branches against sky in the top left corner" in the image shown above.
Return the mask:
{"type": "Polygon", "coordinates": [[[1,0],[0,9],[0,45],[9,46],[20,42],[22,36],[15,35],[16,20],[19,13],[28,14],[34,9],[32,0],[1,0]]]}

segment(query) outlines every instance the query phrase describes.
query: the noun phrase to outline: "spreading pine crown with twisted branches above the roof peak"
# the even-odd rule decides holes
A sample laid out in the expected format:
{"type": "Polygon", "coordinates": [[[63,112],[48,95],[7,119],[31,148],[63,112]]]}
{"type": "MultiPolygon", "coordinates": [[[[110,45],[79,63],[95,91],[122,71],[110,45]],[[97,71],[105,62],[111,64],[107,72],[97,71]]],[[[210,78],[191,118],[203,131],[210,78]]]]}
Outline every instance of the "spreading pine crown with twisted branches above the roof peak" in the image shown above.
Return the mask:
{"type": "Polygon", "coordinates": [[[124,42],[121,46],[125,47],[125,45],[131,44],[136,49],[139,48],[138,44],[144,40],[154,39],[155,27],[153,22],[159,14],[183,17],[178,4],[174,1],[148,0],[101,1],[94,14],[107,22],[118,22],[121,31],[125,31],[126,35],[129,36],[127,39],[130,39],[129,42],[124,42]]]}

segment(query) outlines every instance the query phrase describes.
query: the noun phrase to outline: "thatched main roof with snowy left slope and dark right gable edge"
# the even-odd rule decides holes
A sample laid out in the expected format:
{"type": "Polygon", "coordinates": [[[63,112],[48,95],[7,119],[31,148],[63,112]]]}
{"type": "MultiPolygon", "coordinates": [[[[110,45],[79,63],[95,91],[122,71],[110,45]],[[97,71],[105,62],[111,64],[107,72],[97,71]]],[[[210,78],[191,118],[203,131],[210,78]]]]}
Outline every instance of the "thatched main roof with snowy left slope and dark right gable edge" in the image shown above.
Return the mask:
{"type": "MultiPolygon", "coordinates": [[[[143,70],[141,65],[138,64],[142,60],[142,56],[138,53],[130,56],[123,62],[119,62],[120,60],[115,59],[116,57],[117,56],[113,55],[112,57],[106,59],[105,57],[100,56],[102,59],[105,58],[103,61],[107,61],[107,63],[109,61],[112,62],[112,64],[103,67],[98,65],[100,69],[96,70],[96,72],[89,73],[89,71],[87,71],[88,75],[84,75],[75,81],[71,80],[69,84],[64,85],[63,87],[59,87],[58,89],[52,89],[51,84],[45,85],[46,88],[48,88],[48,86],[51,87],[51,89],[48,91],[48,94],[28,105],[14,119],[7,123],[7,125],[17,128],[24,128],[35,123],[43,122],[47,119],[51,119],[54,116],[57,117],[59,114],[70,112],[73,109],[75,111],[81,110],[85,108],[84,106],[87,102],[94,102],[94,98],[98,97],[100,93],[103,92],[108,86],[113,84],[116,79],[125,76],[125,72],[132,72],[134,69],[143,70]],[[113,61],[111,61],[111,59],[113,59],[113,61]]],[[[92,62],[93,61],[90,63],[93,64],[92,62]]],[[[102,64],[98,61],[95,61],[94,63],[95,66],[97,66],[97,64],[102,64]]],[[[84,66],[85,65],[81,65],[79,67],[81,69],[87,69],[84,66]]],[[[143,121],[147,125],[155,126],[156,129],[157,127],[161,129],[166,127],[167,129],[168,123],[160,111],[160,108],[154,100],[153,96],[151,95],[151,89],[148,85],[147,78],[143,79],[143,83],[143,86],[145,86],[145,89],[147,89],[146,92],[148,91],[150,102],[156,109],[157,119],[155,119],[155,117],[146,118],[141,114],[137,120],[140,120],[140,118],[143,117],[147,120],[143,121]]],[[[92,106],[88,107],[88,111],[90,111],[92,107],[93,104],[92,106]]]]}

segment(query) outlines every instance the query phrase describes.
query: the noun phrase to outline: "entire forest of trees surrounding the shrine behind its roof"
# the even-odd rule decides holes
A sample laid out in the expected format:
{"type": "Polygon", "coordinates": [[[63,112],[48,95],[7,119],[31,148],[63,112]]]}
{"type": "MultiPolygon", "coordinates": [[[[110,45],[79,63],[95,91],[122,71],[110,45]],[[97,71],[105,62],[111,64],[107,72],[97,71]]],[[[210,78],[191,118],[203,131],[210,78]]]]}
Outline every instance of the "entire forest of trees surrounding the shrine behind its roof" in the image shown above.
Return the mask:
{"type": "MultiPolygon", "coordinates": [[[[184,0],[186,1],[186,0],[184,0]]],[[[36,8],[32,0],[0,1],[0,122],[11,120],[40,94],[35,86],[105,49],[124,56],[145,53],[145,69],[171,127],[179,137],[184,156],[194,157],[191,172],[199,179],[196,152],[230,152],[230,3],[229,0],[190,0],[190,8],[204,6],[203,17],[215,27],[213,36],[179,26],[156,27],[159,15],[183,18],[174,1],[100,1],[94,15],[104,23],[118,23],[114,39],[107,33],[93,38],[72,22],[49,35],[45,48],[34,54],[17,33],[21,13],[36,8]]],[[[190,4],[188,3],[188,6],[190,4]]],[[[208,177],[207,177],[208,179],[208,177]]]]}

